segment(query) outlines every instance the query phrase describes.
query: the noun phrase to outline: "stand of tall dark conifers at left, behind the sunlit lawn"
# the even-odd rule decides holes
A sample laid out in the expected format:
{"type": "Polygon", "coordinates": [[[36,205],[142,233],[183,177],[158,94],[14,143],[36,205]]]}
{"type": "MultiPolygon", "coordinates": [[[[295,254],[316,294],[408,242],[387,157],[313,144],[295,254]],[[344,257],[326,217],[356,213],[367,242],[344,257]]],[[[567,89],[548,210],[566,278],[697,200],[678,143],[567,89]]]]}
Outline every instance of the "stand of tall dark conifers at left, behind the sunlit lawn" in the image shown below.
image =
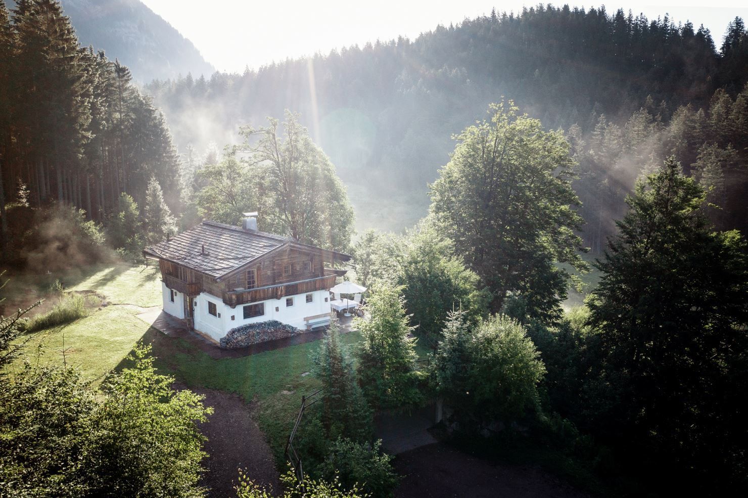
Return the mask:
{"type": "Polygon", "coordinates": [[[0,4],[0,50],[4,259],[28,256],[24,239],[52,201],[110,227],[130,205],[180,210],[180,162],[164,117],[127,67],[79,46],[58,2],[19,2],[12,15],[0,4]]]}

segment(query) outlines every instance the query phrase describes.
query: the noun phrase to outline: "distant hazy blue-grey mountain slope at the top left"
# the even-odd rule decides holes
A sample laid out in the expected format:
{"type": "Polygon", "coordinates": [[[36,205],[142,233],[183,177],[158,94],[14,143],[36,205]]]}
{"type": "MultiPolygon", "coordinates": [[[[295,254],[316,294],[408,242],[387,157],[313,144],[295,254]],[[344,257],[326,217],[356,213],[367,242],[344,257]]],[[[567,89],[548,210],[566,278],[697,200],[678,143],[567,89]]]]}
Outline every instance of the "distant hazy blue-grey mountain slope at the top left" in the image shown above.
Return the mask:
{"type": "MultiPolygon", "coordinates": [[[[22,3],[22,2],[17,2],[22,3]]],[[[82,46],[105,49],[132,70],[136,82],[213,73],[190,40],[139,0],[64,0],[82,46]]],[[[8,9],[16,1],[7,1],[8,9]]]]}

